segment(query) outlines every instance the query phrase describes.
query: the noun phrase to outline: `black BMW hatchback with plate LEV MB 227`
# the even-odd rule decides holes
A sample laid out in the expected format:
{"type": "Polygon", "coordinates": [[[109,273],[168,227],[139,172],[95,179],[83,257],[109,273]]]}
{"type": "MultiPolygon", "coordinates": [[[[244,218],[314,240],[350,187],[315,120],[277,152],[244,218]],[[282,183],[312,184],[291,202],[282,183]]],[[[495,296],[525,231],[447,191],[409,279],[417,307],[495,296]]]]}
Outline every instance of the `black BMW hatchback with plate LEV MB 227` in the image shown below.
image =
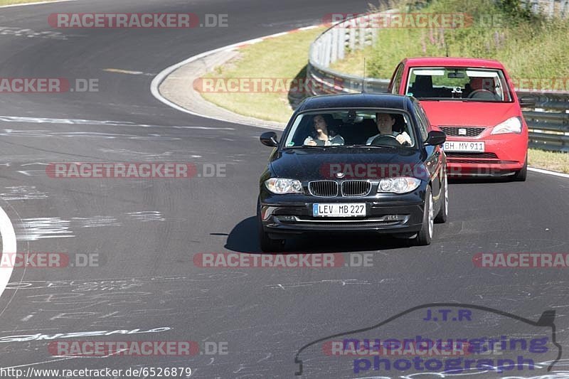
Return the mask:
{"type": "Polygon", "coordinates": [[[419,102],[391,94],[324,95],[304,100],[260,177],[261,249],[287,236],[369,231],[430,244],[448,214],[443,132],[432,131],[419,102]]]}

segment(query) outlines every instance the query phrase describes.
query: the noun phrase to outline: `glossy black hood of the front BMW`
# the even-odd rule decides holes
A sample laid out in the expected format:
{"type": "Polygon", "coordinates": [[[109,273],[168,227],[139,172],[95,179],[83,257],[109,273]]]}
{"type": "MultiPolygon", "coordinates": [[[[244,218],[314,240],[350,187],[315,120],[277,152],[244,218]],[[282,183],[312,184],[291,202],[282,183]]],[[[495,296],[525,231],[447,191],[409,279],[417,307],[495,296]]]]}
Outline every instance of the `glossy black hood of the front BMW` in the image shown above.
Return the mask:
{"type": "Polygon", "coordinates": [[[339,171],[346,174],[346,179],[377,179],[388,176],[389,172],[418,176],[424,174],[422,167],[418,150],[381,147],[284,149],[271,162],[275,176],[300,181],[335,178],[339,171]],[[414,175],[413,169],[419,174],[414,175]]]}

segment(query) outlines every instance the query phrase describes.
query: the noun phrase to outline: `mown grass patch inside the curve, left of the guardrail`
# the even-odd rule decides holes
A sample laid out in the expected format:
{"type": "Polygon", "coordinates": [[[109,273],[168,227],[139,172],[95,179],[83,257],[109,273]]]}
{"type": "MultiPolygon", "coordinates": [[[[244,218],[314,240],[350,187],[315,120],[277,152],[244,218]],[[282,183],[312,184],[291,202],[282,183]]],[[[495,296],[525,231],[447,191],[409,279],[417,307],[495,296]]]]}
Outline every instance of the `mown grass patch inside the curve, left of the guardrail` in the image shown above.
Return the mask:
{"type": "MultiPolygon", "coordinates": [[[[204,78],[297,78],[304,77],[310,43],[324,28],[269,38],[241,48],[238,58],[217,67],[204,78]]],[[[287,88],[283,92],[204,92],[209,102],[245,116],[287,122],[292,114],[287,88]]]]}

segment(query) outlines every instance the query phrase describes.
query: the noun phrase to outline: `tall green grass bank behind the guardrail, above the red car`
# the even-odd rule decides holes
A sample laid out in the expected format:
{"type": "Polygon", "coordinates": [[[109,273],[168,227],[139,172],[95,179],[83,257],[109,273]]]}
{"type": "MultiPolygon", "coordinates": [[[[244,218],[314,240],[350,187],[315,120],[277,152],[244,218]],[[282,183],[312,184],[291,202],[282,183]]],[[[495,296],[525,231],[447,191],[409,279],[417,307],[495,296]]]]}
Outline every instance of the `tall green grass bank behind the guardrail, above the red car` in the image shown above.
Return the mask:
{"type": "MultiPolygon", "coordinates": [[[[417,11],[413,11],[417,12],[417,11]]],[[[420,12],[472,15],[471,27],[455,29],[384,28],[373,47],[359,50],[331,68],[361,75],[366,58],[368,76],[390,78],[406,57],[445,56],[500,60],[512,78],[567,78],[569,20],[510,16],[492,0],[437,0],[420,12]],[[487,15],[498,15],[491,27],[481,27],[487,15]],[[562,41],[563,40],[563,41],[562,41]],[[446,43],[446,45],[445,45],[446,43]]],[[[488,25],[488,22],[485,23],[488,25]]]]}

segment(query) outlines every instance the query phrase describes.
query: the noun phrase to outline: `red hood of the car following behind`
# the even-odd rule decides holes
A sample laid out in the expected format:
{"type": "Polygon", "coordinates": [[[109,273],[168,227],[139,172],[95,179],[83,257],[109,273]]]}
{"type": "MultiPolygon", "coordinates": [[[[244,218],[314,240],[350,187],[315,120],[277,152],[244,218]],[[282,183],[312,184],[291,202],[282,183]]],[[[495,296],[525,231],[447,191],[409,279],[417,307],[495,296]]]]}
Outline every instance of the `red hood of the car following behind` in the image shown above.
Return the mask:
{"type": "Polygon", "coordinates": [[[510,117],[521,116],[516,102],[461,102],[422,100],[432,126],[495,127],[510,117]]]}

